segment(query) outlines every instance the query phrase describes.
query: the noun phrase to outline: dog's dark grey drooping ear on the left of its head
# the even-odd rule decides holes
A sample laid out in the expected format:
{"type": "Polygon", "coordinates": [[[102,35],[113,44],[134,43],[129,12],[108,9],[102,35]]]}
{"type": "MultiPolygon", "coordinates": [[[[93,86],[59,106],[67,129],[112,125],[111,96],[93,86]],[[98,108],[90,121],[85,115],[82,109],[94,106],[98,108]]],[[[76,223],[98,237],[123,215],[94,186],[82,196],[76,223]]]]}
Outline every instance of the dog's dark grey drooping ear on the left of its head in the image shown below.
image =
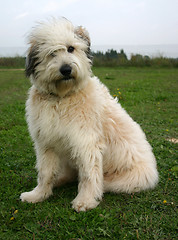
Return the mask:
{"type": "Polygon", "coordinates": [[[38,47],[36,44],[32,44],[29,48],[29,53],[25,61],[25,73],[27,77],[30,77],[31,74],[35,73],[35,68],[39,64],[38,60],[38,47]]]}

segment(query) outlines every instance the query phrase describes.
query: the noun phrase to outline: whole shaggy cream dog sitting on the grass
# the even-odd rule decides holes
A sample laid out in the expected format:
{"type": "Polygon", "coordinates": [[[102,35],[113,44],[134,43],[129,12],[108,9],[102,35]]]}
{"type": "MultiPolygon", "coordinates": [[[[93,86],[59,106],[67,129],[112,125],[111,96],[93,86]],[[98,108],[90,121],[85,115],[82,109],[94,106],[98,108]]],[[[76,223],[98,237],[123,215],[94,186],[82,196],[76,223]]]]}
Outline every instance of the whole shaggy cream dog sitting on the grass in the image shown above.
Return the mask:
{"type": "Polygon", "coordinates": [[[52,19],[28,39],[26,118],[38,184],[21,200],[41,202],[54,187],[78,179],[72,207],[79,212],[95,208],[105,192],[155,187],[156,160],[144,132],[92,74],[88,31],[52,19]]]}

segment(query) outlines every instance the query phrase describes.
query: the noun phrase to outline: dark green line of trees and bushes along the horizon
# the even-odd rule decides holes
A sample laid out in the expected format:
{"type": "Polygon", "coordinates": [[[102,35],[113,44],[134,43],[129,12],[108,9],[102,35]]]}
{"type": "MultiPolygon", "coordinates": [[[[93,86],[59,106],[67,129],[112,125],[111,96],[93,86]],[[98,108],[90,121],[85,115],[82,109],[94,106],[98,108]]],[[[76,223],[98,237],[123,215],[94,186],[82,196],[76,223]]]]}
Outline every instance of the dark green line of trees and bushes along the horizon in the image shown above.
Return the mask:
{"type": "MultiPolygon", "coordinates": [[[[141,54],[132,54],[128,59],[123,49],[117,52],[109,49],[106,52],[92,52],[93,65],[96,67],[178,67],[178,58],[163,56],[149,57],[141,54]]],[[[25,57],[0,57],[0,68],[24,68],[25,57]]]]}

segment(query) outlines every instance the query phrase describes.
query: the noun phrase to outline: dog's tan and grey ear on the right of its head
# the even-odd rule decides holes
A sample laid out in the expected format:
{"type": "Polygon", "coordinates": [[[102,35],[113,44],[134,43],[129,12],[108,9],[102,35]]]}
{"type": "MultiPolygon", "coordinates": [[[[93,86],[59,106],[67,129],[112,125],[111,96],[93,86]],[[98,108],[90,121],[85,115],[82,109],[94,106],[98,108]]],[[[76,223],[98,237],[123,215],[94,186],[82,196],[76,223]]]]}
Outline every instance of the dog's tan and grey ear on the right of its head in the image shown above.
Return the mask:
{"type": "Polygon", "coordinates": [[[90,49],[91,42],[90,42],[90,36],[88,31],[84,27],[79,26],[75,28],[75,34],[77,35],[77,37],[83,39],[86,42],[88,46],[86,55],[91,60],[91,63],[92,63],[93,57],[91,55],[91,49],[90,49]]]}

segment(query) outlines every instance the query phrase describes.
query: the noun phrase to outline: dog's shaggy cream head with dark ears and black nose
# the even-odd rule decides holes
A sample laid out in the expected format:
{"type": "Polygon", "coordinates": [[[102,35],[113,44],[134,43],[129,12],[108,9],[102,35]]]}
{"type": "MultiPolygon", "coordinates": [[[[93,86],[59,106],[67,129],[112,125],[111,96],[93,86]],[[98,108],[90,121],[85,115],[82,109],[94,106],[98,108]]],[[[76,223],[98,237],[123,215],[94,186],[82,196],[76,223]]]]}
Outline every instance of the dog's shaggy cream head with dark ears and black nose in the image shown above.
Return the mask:
{"type": "Polygon", "coordinates": [[[26,75],[47,94],[65,96],[85,86],[91,76],[90,37],[67,19],[37,25],[29,35],[26,75]]]}

